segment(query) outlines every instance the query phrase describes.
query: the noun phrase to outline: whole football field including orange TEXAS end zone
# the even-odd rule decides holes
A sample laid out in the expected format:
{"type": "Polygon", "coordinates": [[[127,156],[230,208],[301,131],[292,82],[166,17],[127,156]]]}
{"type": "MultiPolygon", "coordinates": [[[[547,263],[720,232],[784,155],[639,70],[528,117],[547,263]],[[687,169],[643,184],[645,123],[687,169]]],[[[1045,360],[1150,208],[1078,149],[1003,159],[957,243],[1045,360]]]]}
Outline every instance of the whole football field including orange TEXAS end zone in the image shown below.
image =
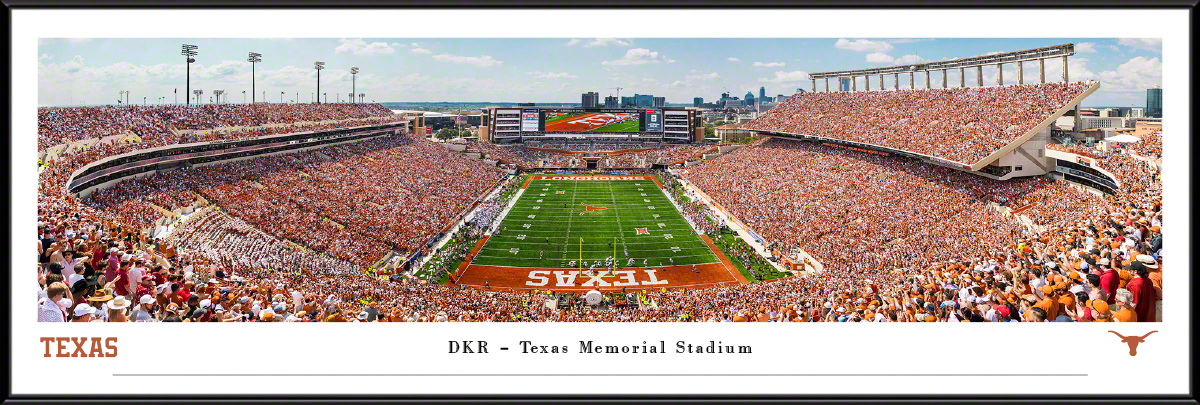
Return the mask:
{"type": "Polygon", "coordinates": [[[715,250],[653,176],[538,175],[458,276],[468,285],[566,290],[744,282],[715,250]],[[616,268],[594,279],[613,267],[608,258],[616,268]]]}

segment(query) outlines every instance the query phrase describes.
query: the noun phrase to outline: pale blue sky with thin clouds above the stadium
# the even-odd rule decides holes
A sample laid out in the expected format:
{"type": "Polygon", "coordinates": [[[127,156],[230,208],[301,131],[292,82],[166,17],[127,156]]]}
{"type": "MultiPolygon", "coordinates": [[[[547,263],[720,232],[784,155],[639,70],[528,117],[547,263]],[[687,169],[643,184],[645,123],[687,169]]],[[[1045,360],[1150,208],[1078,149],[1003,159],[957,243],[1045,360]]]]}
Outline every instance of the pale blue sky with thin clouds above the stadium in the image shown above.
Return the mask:
{"type": "MultiPolygon", "coordinates": [[[[653,93],[670,103],[809,90],[808,72],[841,71],[937,61],[998,52],[1075,43],[1072,80],[1096,79],[1100,91],[1085,105],[1145,104],[1145,89],[1162,85],[1159,38],[43,38],[38,41],[38,104],[113,103],[121,90],[137,103],[173,101],[185,85],[180,44],[199,46],[191,66],[192,89],[223,89],[228,101],[250,98],[248,52],[257,66],[259,97],[308,102],[316,91],[313,61],[325,62],[320,89],[350,92],[349,68],[358,66],[358,92],[378,102],[580,102],[580,93],[653,93]]],[[[1061,62],[1046,64],[1046,79],[1061,79],[1061,62]]],[[[1036,64],[1026,64],[1036,81],[1036,64]]],[[[872,87],[877,86],[872,78],[872,87]]],[[[890,78],[887,81],[892,86],[890,78]]],[[[907,79],[901,79],[907,85],[907,79]]],[[[924,86],[918,77],[917,86],[924,86]]],[[[1016,83],[1006,66],[1004,81],[1016,83]]],[[[935,74],[934,86],[941,85],[935,74]]],[[[952,73],[949,83],[956,84],[952,73]]],[[[967,75],[967,85],[973,85],[967,75]]],[[[996,69],[984,69],[996,83],[996,69]]],[[[862,81],[859,81],[862,85],[862,81]]],[[[823,83],[818,84],[818,89],[823,83]]],[[[180,98],[182,102],[182,98],[180,98]]]]}

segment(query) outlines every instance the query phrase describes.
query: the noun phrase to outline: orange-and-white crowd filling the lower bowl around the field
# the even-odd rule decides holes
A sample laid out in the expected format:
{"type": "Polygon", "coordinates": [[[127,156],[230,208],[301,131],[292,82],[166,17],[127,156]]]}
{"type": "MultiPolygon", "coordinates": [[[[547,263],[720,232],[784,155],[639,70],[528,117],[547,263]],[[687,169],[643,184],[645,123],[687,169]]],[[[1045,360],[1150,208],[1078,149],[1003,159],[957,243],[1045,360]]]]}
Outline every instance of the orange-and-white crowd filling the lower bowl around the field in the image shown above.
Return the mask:
{"type": "MultiPolygon", "coordinates": [[[[824,271],[646,290],[636,306],[607,310],[554,310],[546,291],[366,270],[384,250],[421,250],[504,177],[425,140],[179,169],[83,201],[61,189],[72,159],[64,157],[38,175],[38,321],[1153,321],[1160,179],[1121,156],[1110,167],[1122,191],[1100,197],[1042,177],[995,182],[894,156],[760,140],[684,177],[772,248],[803,248],[824,271]],[[211,204],[176,219],[166,240],[148,236],[155,206],[197,195],[211,204]]],[[[482,201],[480,224],[502,206],[482,201]]],[[[685,214],[704,219],[694,208],[685,214]]]]}

